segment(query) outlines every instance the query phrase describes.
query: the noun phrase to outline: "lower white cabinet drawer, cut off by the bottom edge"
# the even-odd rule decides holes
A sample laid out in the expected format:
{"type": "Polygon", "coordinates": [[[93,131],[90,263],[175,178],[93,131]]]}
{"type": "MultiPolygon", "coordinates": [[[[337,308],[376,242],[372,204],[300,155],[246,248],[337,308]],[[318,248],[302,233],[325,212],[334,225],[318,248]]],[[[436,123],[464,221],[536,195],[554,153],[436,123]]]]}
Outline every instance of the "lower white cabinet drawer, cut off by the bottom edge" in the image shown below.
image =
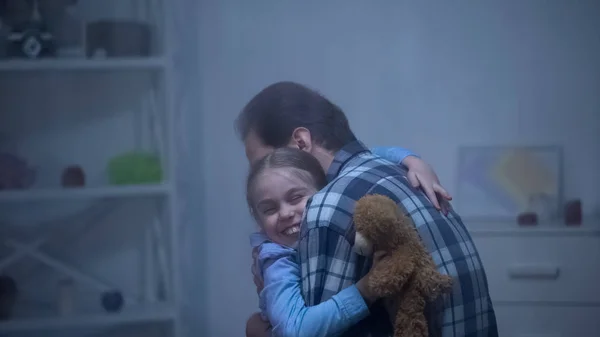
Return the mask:
{"type": "Polygon", "coordinates": [[[501,337],[596,337],[600,308],[495,306],[501,337]]]}

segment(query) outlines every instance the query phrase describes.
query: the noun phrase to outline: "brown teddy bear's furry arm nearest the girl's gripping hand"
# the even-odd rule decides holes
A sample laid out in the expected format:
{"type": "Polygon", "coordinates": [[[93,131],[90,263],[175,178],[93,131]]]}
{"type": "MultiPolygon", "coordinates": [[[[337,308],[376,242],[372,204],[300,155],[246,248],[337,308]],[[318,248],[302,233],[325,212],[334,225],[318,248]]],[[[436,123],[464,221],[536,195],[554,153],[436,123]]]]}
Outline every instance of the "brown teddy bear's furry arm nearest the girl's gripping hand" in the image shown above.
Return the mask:
{"type": "Polygon", "coordinates": [[[410,256],[404,251],[398,251],[373,266],[369,272],[368,286],[374,295],[388,297],[402,290],[415,269],[410,256]]]}

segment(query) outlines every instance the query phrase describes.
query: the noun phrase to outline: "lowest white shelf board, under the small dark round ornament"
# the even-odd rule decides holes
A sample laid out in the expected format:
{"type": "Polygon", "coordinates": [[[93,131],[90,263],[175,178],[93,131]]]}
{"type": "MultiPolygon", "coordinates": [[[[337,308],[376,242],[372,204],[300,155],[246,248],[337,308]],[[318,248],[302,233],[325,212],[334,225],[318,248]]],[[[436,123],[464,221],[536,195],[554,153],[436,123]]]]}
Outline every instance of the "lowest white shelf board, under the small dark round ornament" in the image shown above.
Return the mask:
{"type": "Polygon", "coordinates": [[[117,325],[144,323],[166,323],[175,318],[175,310],[169,308],[140,309],[114,314],[97,314],[89,316],[48,317],[33,319],[15,319],[0,322],[0,334],[30,332],[36,330],[67,330],[76,328],[110,328],[117,325]]]}

